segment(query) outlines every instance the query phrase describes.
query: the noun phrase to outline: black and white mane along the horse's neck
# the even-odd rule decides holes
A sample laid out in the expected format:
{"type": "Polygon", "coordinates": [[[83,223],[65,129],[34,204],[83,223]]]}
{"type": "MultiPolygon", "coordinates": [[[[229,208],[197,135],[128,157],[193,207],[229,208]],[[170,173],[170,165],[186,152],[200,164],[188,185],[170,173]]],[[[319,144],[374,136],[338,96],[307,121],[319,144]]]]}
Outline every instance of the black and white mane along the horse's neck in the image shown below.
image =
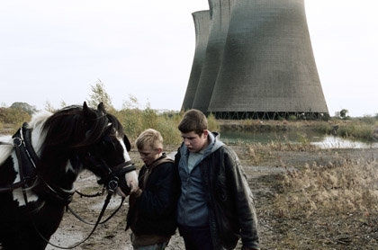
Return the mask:
{"type": "MultiPolygon", "coordinates": [[[[38,156],[43,147],[66,145],[70,147],[85,147],[93,144],[103,136],[105,129],[112,128],[123,137],[123,128],[120,121],[110,113],[103,113],[90,109],[90,117],[86,118],[83,107],[68,106],[58,112],[38,112],[31,117],[28,129],[32,133],[32,146],[38,156]]],[[[0,137],[1,141],[12,143],[11,136],[0,137]]],[[[13,147],[0,146],[0,164],[11,154],[13,147]]]]}

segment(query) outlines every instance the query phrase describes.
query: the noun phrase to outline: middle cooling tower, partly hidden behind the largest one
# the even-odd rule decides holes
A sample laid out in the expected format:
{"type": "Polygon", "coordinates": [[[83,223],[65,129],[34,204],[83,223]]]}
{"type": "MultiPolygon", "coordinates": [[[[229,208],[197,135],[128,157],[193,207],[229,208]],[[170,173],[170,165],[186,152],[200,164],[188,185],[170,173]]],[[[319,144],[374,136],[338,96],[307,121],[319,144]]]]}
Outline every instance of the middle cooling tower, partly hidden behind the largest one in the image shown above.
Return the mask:
{"type": "Polygon", "coordinates": [[[220,69],[223,49],[229,29],[233,0],[209,0],[211,27],[200,80],[193,99],[193,109],[207,112],[212,89],[220,69]]]}

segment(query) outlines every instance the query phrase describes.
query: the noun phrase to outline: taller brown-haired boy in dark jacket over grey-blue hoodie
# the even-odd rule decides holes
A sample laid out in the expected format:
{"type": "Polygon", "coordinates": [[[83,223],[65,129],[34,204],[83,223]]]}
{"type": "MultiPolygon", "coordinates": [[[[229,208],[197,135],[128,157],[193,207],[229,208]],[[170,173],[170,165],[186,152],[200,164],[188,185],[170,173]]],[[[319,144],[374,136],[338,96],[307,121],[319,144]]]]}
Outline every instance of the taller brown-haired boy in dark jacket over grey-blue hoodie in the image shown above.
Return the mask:
{"type": "Polygon", "coordinates": [[[178,129],[184,142],[175,155],[177,223],[185,248],[233,249],[241,237],[243,249],[258,249],[253,196],[238,156],[198,110],[185,112],[178,129]]]}

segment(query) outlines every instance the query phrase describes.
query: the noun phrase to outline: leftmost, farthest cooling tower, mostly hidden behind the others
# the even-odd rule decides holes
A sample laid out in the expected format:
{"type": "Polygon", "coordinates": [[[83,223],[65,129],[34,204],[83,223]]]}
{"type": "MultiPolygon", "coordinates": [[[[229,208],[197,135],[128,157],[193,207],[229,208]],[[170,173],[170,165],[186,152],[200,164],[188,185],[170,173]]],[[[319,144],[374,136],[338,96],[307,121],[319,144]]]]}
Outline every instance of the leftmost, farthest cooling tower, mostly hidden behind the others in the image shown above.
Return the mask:
{"type": "Polygon", "coordinates": [[[200,11],[192,13],[195,28],[195,50],[192,71],[186,87],[182,109],[192,108],[195,91],[200,80],[203,61],[206,54],[207,40],[210,32],[210,11],[200,11]]]}

